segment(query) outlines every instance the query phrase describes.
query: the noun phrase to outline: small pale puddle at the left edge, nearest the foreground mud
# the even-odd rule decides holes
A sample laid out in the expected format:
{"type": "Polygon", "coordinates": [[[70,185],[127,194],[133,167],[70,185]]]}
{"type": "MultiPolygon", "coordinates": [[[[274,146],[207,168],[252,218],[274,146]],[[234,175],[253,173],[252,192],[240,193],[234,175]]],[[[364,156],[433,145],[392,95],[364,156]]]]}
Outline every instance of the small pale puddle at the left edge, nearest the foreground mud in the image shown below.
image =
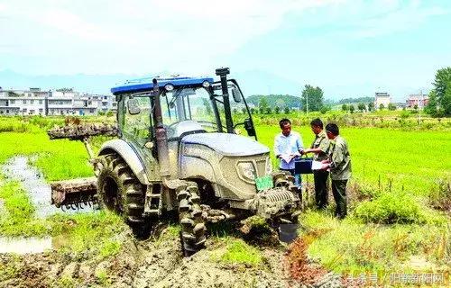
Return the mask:
{"type": "Polygon", "coordinates": [[[51,237],[47,238],[2,238],[0,253],[36,254],[51,250],[51,237]]]}

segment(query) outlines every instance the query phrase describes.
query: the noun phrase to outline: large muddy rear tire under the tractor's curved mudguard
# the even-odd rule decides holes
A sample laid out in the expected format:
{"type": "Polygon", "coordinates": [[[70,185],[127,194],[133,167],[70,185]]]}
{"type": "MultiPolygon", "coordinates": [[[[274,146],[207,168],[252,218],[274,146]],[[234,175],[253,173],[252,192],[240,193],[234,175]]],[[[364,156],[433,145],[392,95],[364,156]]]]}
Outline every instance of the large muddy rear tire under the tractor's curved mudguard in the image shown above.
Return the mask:
{"type": "Polygon", "coordinates": [[[116,154],[103,156],[97,176],[100,207],[124,217],[137,235],[145,233],[149,220],[143,217],[145,186],[124,159],[116,154]]]}

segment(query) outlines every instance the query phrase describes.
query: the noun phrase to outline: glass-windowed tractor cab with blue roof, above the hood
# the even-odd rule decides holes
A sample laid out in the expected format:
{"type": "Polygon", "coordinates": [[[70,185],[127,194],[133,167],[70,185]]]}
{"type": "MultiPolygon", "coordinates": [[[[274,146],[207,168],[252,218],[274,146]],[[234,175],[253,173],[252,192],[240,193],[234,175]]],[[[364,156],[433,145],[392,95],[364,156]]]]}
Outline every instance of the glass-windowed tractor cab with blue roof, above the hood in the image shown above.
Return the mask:
{"type": "MultiPolygon", "coordinates": [[[[234,79],[226,80],[226,95],[220,82],[211,77],[154,77],[127,81],[111,89],[118,102],[117,120],[121,136],[141,144],[155,139],[156,94],[161,108],[161,124],[168,140],[200,132],[235,133],[244,125],[256,139],[251,113],[234,79]],[[152,83],[155,79],[158,89],[152,83]],[[231,104],[239,103],[247,112],[242,123],[234,123],[231,104]]],[[[158,110],[158,109],[157,109],[158,110]]]]}

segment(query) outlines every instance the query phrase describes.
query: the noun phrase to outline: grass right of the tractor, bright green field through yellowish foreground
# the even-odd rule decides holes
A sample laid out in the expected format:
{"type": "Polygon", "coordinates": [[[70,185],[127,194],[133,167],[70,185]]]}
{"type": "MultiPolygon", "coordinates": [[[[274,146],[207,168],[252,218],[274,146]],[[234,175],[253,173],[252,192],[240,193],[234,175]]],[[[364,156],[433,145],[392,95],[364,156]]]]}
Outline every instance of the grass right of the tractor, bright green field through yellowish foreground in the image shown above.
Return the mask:
{"type": "MultiPolygon", "coordinates": [[[[442,179],[451,175],[451,133],[340,128],[351,152],[352,182],[360,185],[357,197],[367,200],[351,202],[350,215],[343,221],[332,217],[333,207],[304,213],[301,234],[311,240],[308,255],[340,273],[406,271],[410,257],[433,266],[449,265],[451,221],[432,210],[428,201],[444,206],[438,198],[449,194],[449,182],[442,179]]],[[[301,133],[306,147],[310,145],[314,135],[308,125],[293,130],[301,133]]],[[[277,125],[257,127],[259,141],[270,148],[278,132],[277,125]]],[[[278,165],[273,156],[272,161],[278,165]]],[[[313,182],[311,175],[303,175],[303,180],[313,182]]]]}

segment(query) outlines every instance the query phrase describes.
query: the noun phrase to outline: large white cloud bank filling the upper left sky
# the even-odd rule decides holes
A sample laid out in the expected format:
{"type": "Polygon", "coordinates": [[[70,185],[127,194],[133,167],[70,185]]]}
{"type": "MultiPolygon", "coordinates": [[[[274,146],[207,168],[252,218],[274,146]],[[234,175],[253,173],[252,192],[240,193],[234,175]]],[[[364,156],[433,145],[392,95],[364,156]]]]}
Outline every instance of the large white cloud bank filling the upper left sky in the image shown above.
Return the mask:
{"type": "Polygon", "coordinates": [[[40,57],[28,69],[47,73],[203,71],[278,29],[286,14],[337,2],[16,0],[0,5],[9,26],[0,28],[0,57],[40,57]]]}

